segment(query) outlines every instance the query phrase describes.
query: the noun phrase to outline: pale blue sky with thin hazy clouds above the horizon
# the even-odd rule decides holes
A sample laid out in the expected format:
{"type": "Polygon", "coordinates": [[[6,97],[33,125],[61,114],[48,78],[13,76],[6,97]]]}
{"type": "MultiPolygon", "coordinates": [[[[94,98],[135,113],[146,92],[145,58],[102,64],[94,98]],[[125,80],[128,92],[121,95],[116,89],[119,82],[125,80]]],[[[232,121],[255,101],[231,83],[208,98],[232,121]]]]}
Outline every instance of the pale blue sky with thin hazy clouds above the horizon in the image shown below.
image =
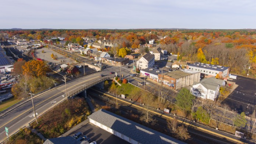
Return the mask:
{"type": "Polygon", "coordinates": [[[255,0],[1,0],[0,29],[256,28],[255,0]]]}

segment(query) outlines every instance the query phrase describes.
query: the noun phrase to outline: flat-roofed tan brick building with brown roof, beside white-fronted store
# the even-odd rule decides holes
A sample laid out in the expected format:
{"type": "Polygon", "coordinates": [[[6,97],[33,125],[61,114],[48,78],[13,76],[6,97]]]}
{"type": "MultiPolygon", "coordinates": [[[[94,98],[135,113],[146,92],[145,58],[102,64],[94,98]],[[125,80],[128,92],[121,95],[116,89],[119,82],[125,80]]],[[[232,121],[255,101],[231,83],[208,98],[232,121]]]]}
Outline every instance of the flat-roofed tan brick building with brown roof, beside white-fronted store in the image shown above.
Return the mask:
{"type": "Polygon", "coordinates": [[[192,85],[194,82],[200,81],[200,72],[190,69],[179,69],[166,73],[158,74],[158,82],[179,89],[181,87],[192,85]]]}

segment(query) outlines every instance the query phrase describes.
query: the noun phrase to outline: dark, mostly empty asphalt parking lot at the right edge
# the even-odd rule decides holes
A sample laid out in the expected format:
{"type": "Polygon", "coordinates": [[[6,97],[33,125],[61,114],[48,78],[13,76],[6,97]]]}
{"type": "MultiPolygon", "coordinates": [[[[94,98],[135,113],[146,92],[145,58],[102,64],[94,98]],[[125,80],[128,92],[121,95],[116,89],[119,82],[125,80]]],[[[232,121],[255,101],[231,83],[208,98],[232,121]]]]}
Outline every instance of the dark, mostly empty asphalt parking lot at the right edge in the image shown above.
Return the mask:
{"type": "Polygon", "coordinates": [[[238,87],[222,103],[228,104],[230,109],[238,113],[245,112],[249,116],[255,110],[256,80],[237,75],[236,79],[230,81],[235,82],[238,87]]]}

